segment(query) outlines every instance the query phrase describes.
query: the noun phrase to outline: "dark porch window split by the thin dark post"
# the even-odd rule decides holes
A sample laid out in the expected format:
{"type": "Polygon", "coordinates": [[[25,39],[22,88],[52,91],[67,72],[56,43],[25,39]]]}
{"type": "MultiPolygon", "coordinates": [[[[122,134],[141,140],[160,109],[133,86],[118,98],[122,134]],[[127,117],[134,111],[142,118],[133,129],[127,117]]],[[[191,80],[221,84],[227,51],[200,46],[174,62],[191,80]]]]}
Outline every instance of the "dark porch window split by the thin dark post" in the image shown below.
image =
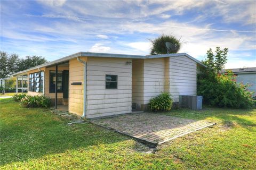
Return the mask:
{"type": "MultiPolygon", "coordinates": [[[[55,92],[55,71],[50,71],[50,92],[55,92]]],[[[58,71],[57,92],[62,92],[62,71],[58,71]]]]}

